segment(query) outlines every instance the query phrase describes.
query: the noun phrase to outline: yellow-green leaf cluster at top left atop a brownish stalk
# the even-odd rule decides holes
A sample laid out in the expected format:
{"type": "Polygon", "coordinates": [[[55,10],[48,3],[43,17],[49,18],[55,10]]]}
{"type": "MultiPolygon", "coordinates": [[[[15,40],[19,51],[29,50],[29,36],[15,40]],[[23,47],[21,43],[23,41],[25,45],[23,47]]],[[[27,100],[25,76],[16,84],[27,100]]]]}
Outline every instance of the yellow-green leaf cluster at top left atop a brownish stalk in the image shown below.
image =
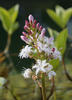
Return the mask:
{"type": "Polygon", "coordinates": [[[2,21],[3,28],[9,35],[12,35],[12,33],[19,27],[18,22],[15,22],[18,16],[18,11],[18,4],[8,11],[0,7],[0,20],[2,21]]]}

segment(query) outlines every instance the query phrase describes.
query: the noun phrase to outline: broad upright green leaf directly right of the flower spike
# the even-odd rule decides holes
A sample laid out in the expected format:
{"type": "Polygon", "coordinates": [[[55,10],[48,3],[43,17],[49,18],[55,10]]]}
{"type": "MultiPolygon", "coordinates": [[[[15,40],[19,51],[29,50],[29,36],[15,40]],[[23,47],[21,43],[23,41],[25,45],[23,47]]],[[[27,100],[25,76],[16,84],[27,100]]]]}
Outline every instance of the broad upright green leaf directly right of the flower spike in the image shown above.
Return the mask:
{"type": "Polygon", "coordinates": [[[63,31],[60,32],[60,34],[57,36],[55,45],[57,49],[64,54],[65,49],[66,49],[66,41],[68,37],[68,30],[64,29],[63,31]]]}

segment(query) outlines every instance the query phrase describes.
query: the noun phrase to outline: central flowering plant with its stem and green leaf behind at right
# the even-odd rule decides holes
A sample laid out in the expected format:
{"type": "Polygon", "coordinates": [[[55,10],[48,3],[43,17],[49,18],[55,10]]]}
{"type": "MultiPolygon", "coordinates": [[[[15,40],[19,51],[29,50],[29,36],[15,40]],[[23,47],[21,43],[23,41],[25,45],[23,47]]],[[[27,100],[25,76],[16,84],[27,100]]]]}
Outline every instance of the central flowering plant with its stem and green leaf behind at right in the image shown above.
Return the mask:
{"type": "Polygon", "coordinates": [[[63,30],[54,41],[54,37],[47,37],[46,29],[40,25],[30,14],[25,21],[24,32],[20,36],[27,44],[19,53],[20,58],[32,58],[35,64],[32,68],[25,69],[24,78],[32,78],[42,90],[43,100],[47,100],[45,79],[54,79],[56,72],[54,67],[62,60],[62,52],[65,51],[67,29],[63,30]],[[28,21],[29,20],[29,21],[28,21]],[[64,36],[66,34],[66,36],[64,36]],[[62,37],[63,36],[63,37],[62,37]],[[65,39],[62,39],[64,38],[65,39]],[[61,44],[61,42],[63,42],[61,44]]]}

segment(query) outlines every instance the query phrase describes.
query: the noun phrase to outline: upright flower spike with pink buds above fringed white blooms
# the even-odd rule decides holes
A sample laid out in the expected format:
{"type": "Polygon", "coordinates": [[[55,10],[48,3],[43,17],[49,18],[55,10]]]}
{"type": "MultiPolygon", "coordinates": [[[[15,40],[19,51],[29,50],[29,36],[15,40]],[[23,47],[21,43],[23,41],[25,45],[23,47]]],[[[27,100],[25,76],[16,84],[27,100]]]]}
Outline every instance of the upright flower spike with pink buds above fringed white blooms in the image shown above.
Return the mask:
{"type": "Polygon", "coordinates": [[[29,21],[25,21],[25,31],[21,35],[21,39],[27,45],[21,50],[19,56],[20,58],[33,58],[36,64],[32,70],[26,69],[23,76],[30,78],[33,74],[39,76],[40,73],[45,73],[51,79],[56,73],[52,71],[53,66],[48,62],[52,59],[61,60],[61,53],[54,45],[54,38],[45,36],[46,29],[37,23],[32,15],[29,15],[28,19],[29,21]]]}

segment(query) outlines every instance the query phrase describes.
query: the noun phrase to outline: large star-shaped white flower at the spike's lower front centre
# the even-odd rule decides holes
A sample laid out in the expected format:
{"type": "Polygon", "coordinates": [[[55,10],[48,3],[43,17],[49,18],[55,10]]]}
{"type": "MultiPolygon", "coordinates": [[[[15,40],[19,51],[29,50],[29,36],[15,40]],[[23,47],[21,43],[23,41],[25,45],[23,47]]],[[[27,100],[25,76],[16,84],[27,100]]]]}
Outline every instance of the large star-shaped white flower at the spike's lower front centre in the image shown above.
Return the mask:
{"type": "Polygon", "coordinates": [[[52,69],[52,65],[50,65],[49,63],[46,63],[46,60],[37,60],[37,64],[35,64],[32,69],[36,69],[36,75],[39,72],[49,72],[52,69]]]}

